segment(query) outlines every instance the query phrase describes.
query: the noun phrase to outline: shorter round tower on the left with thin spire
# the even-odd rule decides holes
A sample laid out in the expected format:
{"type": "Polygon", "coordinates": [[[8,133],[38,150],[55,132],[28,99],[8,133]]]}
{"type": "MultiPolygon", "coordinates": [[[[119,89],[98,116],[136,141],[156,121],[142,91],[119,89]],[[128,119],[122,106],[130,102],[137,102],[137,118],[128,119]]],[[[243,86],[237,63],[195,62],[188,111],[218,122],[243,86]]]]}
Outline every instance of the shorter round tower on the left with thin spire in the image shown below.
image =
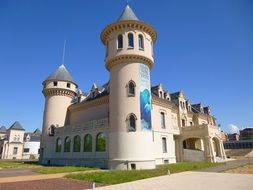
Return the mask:
{"type": "Polygon", "coordinates": [[[43,82],[45,96],[43,127],[41,137],[40,162],[50,164],[54,152],[54,129],[64,126],[68,107],[76,96],[77,84],[70,73],[61,65],[43,82]]]}

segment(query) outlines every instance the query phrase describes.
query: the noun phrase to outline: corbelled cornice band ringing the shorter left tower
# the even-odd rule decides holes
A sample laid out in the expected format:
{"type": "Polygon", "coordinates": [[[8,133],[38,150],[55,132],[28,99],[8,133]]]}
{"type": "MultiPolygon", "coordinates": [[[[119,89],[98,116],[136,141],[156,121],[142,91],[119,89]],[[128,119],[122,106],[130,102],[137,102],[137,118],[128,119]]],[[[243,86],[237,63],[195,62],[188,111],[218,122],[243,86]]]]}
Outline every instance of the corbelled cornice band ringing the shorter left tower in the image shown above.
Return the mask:
{"type": "Polygon", "coordinates": [[[46,88],[42,91],[45,97],[47,96],[67,96],[72,98],[76,93],[72,90],[64,88],[46,88]]]}

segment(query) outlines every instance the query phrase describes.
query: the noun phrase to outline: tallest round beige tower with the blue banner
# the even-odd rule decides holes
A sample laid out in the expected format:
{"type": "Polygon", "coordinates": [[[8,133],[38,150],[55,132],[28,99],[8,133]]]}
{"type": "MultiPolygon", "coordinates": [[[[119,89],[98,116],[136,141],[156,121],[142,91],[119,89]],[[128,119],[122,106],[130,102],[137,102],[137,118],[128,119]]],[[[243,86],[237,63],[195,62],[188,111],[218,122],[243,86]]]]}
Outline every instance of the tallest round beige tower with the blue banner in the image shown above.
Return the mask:
{"type": "Polygon", "coordinates": [[[127,5],[101,40],[110,72],[109,168],[155,168],[150,69],[156,32],[127,5]]]}

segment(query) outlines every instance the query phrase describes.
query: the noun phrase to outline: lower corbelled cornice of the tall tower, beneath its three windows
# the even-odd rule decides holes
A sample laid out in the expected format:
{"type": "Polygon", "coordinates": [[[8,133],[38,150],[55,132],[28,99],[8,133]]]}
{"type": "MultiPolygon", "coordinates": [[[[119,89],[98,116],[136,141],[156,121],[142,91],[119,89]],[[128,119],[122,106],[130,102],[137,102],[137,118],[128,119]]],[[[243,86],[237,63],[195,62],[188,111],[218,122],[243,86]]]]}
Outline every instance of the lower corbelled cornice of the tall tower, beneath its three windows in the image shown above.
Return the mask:
{"type": "Polygon", "coordinates": [[[114,65],[119,63],[143,63],[152,69],[153,61],[145,56],[137,55],[137,54],[124,54],[113,57],[106,61],[106,68],[110,70],[114,65]]]}

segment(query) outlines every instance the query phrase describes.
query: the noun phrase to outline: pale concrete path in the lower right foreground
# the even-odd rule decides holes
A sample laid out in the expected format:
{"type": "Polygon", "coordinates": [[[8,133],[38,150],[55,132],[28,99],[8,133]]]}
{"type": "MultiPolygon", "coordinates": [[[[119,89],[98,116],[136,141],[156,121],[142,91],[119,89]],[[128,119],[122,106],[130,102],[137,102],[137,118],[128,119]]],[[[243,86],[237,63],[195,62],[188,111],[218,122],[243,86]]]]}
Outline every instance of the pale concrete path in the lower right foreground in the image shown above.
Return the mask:
{"type": "Polygon", "coordinates": [[[183,172],[96,188],[98,190],[252,190],[252,174],[183,172]]]}

